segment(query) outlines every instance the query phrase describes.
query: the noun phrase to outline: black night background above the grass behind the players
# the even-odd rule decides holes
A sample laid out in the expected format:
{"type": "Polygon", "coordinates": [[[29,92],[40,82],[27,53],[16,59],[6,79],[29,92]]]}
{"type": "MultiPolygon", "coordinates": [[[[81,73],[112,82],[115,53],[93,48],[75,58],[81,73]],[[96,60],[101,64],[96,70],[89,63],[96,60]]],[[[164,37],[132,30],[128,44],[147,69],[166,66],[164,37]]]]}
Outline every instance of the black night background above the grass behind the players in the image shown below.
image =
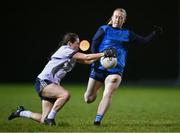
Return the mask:
{"type": "MultiPolygon", "coordinates": [[[[0,82],[32,82],[47,58],[57,49],[66,32],[80,39],[91,38],[114,9],[123,7],[128,17],[124,27],[147,35],[153,25],[163,28],[162,36],[148,45],[129,49],[125,81],[175,81],[179,78],[178,0],[112,1],[7,1],[3,12],[0,82]]],[[[89,52],[89,51],[88,51],[89,52]]],[[[77,64],[64,82],[87,82],[89,66],[77,64]]]]}

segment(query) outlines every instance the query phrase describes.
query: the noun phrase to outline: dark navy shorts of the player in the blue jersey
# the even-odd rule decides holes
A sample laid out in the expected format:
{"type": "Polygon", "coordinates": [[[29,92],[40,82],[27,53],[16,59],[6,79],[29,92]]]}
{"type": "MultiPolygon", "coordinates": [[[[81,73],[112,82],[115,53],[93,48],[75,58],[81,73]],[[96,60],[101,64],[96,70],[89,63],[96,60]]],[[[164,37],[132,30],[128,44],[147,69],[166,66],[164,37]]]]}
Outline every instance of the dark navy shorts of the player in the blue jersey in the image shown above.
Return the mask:
{"type": "Polygon", "coordinates": [[[90,77],[100,82],[104,82],[106,77],[111,74],[119,74],[122,77],[122,73],[111,73],[106,70],[100,70],[95,68],[91,68],[90,77]]]}

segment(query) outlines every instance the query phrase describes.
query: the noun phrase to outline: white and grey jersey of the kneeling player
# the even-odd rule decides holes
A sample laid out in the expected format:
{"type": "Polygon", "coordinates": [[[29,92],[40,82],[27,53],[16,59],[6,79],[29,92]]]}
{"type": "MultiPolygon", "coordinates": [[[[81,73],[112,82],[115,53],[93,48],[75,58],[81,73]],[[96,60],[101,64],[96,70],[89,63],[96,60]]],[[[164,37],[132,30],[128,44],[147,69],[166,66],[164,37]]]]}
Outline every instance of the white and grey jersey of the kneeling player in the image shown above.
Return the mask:
{"type": "Polygon", "coordinates": [[[76,64],[72,56],[76,51],[68,45],[61,46],[46,64],[43,71],[38,75],[41,80],[49,80],[53,83],[60,84],[61,79],[71,71],[76,64]]]}

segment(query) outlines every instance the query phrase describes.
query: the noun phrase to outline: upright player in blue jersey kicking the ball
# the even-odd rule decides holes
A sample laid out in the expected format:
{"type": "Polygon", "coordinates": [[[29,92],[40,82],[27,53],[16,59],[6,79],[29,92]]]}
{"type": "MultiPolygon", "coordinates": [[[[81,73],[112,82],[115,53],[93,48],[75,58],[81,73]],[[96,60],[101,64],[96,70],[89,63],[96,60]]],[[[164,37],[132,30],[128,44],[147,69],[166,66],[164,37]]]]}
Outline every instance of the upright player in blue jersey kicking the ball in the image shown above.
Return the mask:
{"type": "Polygon", "coordinates": [[[114,49],[114,56],[117,56],[118,60],[117,66],[112,69],[103,68],[99,62],[94,62],[91,65],[87,90],[84,94],[85,102],[93,102],[96,99],[98,90],[104,85],[103,97],[97,109],[94,125],[100,125],[110,106],[112,95],[121,83],[130,44],[149,43],[162,31],[162,28],[155,27],[149,35],[142,37],[128,29],[122,28],[126,17],[127,13],[124,9],[115,9],[108,24],[99,27],[92,39],[92,53],[103,52],[111,48],[114,49]]]}

